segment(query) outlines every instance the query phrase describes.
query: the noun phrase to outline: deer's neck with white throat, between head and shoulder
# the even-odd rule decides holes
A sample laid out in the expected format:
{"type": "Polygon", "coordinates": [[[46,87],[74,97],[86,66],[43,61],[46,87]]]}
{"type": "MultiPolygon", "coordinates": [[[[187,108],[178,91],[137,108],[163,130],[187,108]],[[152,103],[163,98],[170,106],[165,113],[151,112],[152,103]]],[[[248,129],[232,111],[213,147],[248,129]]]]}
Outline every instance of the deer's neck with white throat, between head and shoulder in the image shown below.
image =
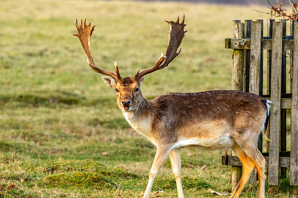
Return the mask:
{"type": "Polygon", "coordinates": [[[128,123],[140,134],[150,138],[153,105],[142,97],[138,107],[130,112],[122,111],[128,123]]]}

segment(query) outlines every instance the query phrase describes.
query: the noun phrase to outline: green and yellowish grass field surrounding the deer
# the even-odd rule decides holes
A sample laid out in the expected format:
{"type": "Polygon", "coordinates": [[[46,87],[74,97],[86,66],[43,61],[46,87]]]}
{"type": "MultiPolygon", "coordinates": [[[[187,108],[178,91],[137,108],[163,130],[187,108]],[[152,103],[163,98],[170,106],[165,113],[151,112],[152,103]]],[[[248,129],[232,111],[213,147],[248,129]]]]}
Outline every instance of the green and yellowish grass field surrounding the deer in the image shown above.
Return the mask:
{"type": "MultiPolygon", "coordinates": [[[[142,197],[156,148],[133,131],[114,90],[86,63],[74,20],[95,25],[94,62],[122,77],[152,67],[167,47],[169,25],[186,15],[181,54],[146,75],[143,95],[231,87],[232,20],[264,19],[237,7],[185,2],[0,0],[0,197],[142,197]]],[[[265,28],[266,29],[266,28],[265,28]]],[[[264,32],[266,35],[266,30],[264,32]]],[[[231,191],[223,151],[181,151],[186,197],[231,191]]],[[[150,197],[177,197],[170,161],[150,197]]],[[[268,197],[297,197],[288,179],[266,184],[268,197]]],[[[257,184],[241,197],[256,197],[257,184]]]]}

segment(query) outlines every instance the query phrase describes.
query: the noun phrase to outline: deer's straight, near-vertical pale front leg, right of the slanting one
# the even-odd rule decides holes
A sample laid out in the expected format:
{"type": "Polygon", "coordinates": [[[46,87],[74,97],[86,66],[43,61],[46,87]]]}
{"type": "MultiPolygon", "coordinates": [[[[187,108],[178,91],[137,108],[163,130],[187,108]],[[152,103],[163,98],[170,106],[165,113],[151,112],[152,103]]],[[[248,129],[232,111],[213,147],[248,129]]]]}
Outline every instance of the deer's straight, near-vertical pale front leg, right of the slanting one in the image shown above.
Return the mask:
{"type": "Polygon", "coordinates": [[[181,181],[181,158],[180,149],[171,150],[169,153],[173,174],[176,179],[178,198],[184,198],[182,181],[181,181]]]}

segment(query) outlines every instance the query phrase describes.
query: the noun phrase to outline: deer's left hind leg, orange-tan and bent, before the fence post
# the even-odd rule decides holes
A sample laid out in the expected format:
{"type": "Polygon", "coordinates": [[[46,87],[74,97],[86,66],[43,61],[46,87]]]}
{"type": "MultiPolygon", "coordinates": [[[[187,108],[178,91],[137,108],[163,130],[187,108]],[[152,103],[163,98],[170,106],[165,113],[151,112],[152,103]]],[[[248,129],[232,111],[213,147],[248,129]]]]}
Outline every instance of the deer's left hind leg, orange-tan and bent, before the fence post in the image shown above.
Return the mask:
{"type": "Polygon", "coordinates": [[[242,166],[243,166],[242,176],[230,197],[230,198],[238,198],[241,191],[243,190],[244,185],[246,184],[247,180],[249,179],[250,174],[254,170],[255,164],[252,161],[252,159],[250,159],[249,156],[247,156],[247,154],[243,151],[243,149],[240,148],[239,145],[235,144],[232,147],[232,150],[234,151],[236,156],[240,159],[242,166]]]}

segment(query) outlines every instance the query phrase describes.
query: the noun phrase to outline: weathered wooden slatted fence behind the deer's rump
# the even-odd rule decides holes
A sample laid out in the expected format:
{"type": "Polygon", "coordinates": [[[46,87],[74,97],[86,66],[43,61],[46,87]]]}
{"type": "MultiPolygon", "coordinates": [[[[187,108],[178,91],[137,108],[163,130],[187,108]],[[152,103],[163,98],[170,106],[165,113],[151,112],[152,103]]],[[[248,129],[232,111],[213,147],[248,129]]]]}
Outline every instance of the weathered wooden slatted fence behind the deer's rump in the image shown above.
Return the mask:
{"type": "MultiPolygon", "coordinates": [[[[290,185],[298,186],[298,22],[290,20],[290,36],[286,36],[286,20],[268,20],[267,37],[263,37],[263,20],[233,21],[233,38],[225,39],[225,48],[233,49],[232,89],[261,95],[273,102],[266,136],[267,152],[263,153],[262,133],[258,148],[266,160],[268,185],[278,185],[279,177],[290,172],[290,185]],[[266,95],[263,94],[263,50],[267,50],[266,95]],[[290,82],[286,77],[286,60],[290,59],[290,82]],[[290,93],[286,85],[290,83],[290,93]],[[291,151],[286,149],[286,109],[291,109],[291,151]]],[[[222,165],[231,165],[232,189],[242,174],[236,156],[222,157],[222,165]]],[[[250,182],[255,182],[254,170],[250,182]]]]}

